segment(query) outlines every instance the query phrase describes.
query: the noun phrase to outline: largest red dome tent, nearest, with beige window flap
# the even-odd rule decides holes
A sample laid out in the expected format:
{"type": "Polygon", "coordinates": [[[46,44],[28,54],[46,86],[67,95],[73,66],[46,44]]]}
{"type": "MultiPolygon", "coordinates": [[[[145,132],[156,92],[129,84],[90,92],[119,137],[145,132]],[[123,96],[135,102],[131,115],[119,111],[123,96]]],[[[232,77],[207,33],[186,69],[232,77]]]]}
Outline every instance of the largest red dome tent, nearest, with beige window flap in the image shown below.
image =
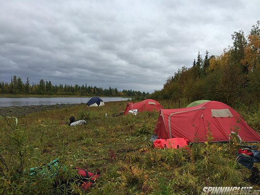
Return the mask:
{"type": "Polygon", "coordinates": [[[191,142],[205,142],[209,127],[213,141],[228,141],[236,126],[242,141],[260,142],[260,135],[240,114],[219,101],[207,101],[188,108],[161,109],[155,134],[163,139],[185,137],[191,142]]]}

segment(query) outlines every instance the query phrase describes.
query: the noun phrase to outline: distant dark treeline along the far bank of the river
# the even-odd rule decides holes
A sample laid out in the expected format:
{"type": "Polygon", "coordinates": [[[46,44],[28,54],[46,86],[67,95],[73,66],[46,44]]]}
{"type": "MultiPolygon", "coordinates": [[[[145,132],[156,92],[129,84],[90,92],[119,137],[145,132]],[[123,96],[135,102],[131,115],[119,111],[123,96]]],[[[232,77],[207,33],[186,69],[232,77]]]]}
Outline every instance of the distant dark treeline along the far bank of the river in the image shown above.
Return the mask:
{"type": "Polygon", "coordinates": [[[144,98],[149,93],[133,91],[133,90],[122,90],[119,91],[117,88],[103,89],[102,87],[78,85],[75,86],[60,84],[53,85],[51,81],[40,80],[38,84],[30,84],[29,78],[26,79],[25,84],[22,79],[17,76],[11,78],[11,82],[0,82],[0,93],[1,94],[23,94],[23,95],[71,95],[71,96],[127,96],[127,97],[138,97],[144,98]]]}

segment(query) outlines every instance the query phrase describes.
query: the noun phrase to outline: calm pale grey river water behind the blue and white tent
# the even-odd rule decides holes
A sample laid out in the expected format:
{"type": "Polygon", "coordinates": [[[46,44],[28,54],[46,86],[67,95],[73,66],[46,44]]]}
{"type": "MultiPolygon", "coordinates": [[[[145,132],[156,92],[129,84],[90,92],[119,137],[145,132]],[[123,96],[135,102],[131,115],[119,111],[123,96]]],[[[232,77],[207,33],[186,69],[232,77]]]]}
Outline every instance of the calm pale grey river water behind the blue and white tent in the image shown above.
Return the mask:
{"type": "MultiPolygon", "coordinates": [[[[0,107],[87,103],[90,98],[0,98],[0,107]]],[[[125,101],[129,98],[102,98],[104,102],[125,101]]]]}

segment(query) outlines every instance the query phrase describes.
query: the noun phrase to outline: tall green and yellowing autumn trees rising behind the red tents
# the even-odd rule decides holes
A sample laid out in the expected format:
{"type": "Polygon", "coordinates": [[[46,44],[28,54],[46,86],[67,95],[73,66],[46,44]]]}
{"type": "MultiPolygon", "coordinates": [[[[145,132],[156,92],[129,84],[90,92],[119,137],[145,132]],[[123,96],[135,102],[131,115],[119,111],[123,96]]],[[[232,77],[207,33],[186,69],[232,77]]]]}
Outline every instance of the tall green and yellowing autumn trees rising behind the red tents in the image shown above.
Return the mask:
{"type": "Polygon", "coordinates": [[[183,100],[216,100],[229,105],[256,105],[260,102],[260,21],[250,34],[234,32],[233,45],[220,56],[204,58],[200,52],[190,68],[182,67],[167,78],[163,89],[150,98],[183,100]]]}

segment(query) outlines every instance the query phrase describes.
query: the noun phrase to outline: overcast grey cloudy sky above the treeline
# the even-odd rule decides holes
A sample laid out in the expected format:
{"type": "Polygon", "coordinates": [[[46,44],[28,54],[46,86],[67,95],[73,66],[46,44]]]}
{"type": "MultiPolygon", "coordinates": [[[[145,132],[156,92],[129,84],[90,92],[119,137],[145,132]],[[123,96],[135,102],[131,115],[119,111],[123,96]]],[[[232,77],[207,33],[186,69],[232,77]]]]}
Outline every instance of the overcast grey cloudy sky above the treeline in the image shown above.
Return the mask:
{"type": "Polygon", "coordinates": [[[260,0],[0,0],[0,81],[160,90],[247,36],[260,0]]]}

